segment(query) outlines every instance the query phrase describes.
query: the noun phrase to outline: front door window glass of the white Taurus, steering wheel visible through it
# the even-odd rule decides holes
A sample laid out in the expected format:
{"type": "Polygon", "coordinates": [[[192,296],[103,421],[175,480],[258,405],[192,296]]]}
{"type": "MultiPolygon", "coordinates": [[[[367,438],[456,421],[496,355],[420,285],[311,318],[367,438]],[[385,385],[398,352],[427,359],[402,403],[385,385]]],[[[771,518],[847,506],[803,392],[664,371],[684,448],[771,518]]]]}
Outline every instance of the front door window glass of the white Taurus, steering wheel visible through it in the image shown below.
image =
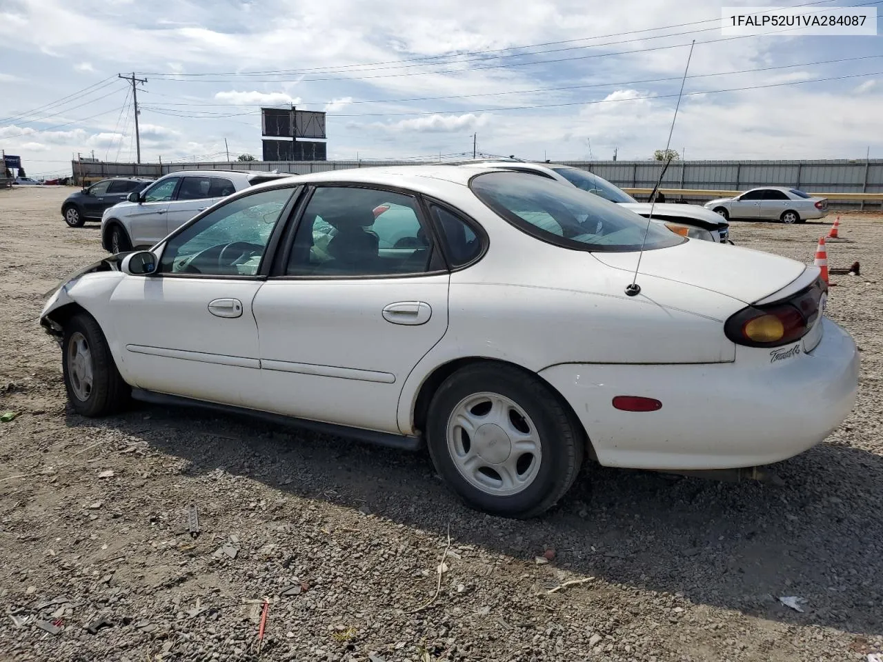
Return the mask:
{"type": "Polygon", "coordinates": [[[255,275],[295,189],[270,189],[218,207],[166,243],[162,274],[255,275]]]}

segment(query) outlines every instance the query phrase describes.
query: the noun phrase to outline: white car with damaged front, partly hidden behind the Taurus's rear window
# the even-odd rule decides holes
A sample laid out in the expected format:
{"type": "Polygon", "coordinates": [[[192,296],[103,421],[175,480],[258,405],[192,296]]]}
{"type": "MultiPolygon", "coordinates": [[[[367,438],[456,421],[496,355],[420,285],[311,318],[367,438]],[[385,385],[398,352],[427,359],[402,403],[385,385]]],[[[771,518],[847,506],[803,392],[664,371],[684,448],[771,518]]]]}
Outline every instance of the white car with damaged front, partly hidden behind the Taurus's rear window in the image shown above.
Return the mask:
{"type": "Polygon", "coordinates": [[[683,237],[702,239],[715,243],[726,244],[729,241],[729,222],[720,215],[715,216],[698,205],[679,205],[670,202],[650,203],[638,202],[623,189],[608,182],[604,177],[599,177],[593,172],[581,168],[559,165],[556,163],[531,163],[518,161],[479,161],[466,162],[463,165],[493,165],[495,167],[513,170],[515,172],[531,172],[542,177],[555,179],[563,184],[573,184],[578,189],[594,193],[603,199],[629,209],[645,218],[650,217],[651,208],[653,218],[665,223],[668,229],[683,237]]]}

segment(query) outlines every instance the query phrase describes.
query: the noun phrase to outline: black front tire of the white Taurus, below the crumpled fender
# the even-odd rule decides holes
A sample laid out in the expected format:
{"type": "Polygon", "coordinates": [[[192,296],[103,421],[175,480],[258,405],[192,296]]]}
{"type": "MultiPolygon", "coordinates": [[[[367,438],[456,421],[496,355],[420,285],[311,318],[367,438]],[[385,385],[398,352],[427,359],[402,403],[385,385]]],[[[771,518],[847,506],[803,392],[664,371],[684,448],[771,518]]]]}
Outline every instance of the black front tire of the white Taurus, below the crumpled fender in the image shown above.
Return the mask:
{"type": "Polygon", "coordinates": [[[122,410],[129,401],[132,389],[117,370],[102,327],[86,312],[74,315],[64,325],[62,371],[68,401],[82,416],[107,416],[122,410]],[[83,381],[78,380],[77,370],[71,365],[72,355],[77,353],[74,344],[80,339],[87,343],[91,359],[92,381],[87,389],[83,387],[83,381]],[[87,391],[85,397],[84,391],[87,391]]]}

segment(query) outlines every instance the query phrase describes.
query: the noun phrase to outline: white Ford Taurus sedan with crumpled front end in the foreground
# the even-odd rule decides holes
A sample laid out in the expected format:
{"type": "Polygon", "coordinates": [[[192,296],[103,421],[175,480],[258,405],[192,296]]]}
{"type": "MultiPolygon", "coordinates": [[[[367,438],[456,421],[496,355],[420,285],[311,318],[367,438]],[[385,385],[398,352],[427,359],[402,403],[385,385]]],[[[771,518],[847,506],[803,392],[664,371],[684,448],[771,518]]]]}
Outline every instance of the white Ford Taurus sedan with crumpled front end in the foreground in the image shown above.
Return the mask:
{"type": "Polygon", "coordinates": [[[817,267],[437,165],[238,192],[72,276],[41,321],[79,414],[133,395],[425,442],[468,504],[526,517],[585,457],[719,470],[824,440],[858,371],[825,299],[817,267]]]}

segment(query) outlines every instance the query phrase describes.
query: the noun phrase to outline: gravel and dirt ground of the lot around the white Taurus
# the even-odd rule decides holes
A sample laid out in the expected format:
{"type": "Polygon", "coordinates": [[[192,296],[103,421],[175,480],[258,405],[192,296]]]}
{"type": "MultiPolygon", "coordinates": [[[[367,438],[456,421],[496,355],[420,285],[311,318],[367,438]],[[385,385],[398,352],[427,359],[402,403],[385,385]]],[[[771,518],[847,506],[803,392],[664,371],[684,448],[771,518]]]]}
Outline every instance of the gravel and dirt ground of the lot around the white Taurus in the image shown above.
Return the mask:
{"type": "MultiPolygon", "coordinates": [[[[774,467],[784,486],[589,467],[544,518],[512,522],[457,503],[423,454],[185,410],[73,415],[36,322],[43,293],[103,254],[97,224],[64,225],[68,192],[0,192],[0,411],[19,413],[0,424],[0,659],[256,659],[260,606],[244,601],[264,597],[266,660],[883,651],[879,215],[843,215],[828,244],[832,265],[862,265],[829,303],[863,350],[856,410],[774,467]],[[57,635],[34,624],[57,619],[57,635]]],[[[811,260],[828,225],[736,222],[732,237],[811,260]]]]}

